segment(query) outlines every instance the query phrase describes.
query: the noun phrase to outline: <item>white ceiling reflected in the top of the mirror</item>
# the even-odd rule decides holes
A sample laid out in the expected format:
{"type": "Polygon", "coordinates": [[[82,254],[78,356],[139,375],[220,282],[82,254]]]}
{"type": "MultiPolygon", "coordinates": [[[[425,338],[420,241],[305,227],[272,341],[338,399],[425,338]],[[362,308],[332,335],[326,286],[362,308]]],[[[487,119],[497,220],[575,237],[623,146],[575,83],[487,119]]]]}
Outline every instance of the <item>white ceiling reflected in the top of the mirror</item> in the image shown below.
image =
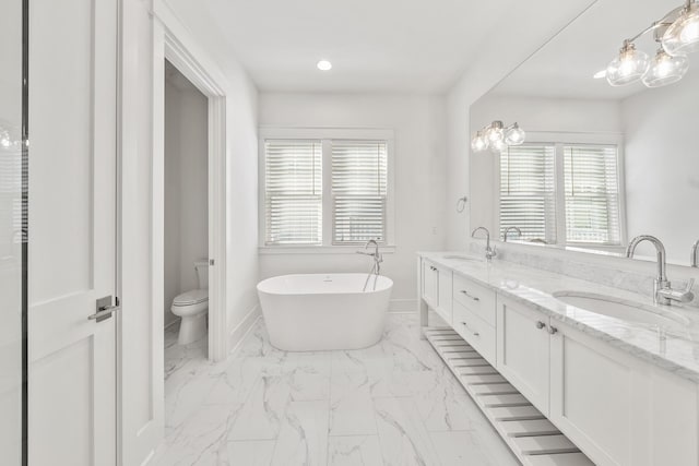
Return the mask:
{"type": "MultiPolygon", "coordinates": [[[[613,87],[593,74],[612,61],[629,38],[682,4],[680,0],[599,0],[572,24],[522,63],[494,89],[498,95],[550,98],[623,99],[647,89],[642,83],[613,87]]],[[[657,45],[652,34],[637,41],[650,57],[657,45]]],[[[691,68],[699,57],[690,57],[691,68]]]]}

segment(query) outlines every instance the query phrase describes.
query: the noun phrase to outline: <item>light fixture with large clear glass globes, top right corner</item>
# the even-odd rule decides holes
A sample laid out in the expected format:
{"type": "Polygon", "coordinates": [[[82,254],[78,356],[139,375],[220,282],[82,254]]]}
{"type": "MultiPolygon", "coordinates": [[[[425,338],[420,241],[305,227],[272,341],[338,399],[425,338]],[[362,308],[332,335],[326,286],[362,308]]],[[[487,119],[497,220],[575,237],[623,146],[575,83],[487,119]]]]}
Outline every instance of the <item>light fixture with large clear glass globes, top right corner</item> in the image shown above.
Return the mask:
{"type": "Polygon", "coordinates": [[[687,53],[699,50],[699,3],[687,0],[655,21],[636,36],[625,39],[619,55],[612,60],[605,76],[613,86],[642,81],[648,87],[660,87],[682,80],[689,69],[687,53]],[[633,44],[653,33],[660,48],[652,59],[633,44]]]}

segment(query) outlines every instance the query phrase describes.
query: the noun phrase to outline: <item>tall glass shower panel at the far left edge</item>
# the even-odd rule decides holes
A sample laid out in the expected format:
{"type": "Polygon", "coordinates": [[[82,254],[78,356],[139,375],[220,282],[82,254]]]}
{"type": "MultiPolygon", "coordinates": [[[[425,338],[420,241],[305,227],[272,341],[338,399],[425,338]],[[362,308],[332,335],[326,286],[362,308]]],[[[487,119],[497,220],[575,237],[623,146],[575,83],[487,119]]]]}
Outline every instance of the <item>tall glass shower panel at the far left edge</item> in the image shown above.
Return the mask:
{"type": "Polygon", "coordinates": [[[0,464],[23,464],[23,8],[0,9],[0,464]]]}

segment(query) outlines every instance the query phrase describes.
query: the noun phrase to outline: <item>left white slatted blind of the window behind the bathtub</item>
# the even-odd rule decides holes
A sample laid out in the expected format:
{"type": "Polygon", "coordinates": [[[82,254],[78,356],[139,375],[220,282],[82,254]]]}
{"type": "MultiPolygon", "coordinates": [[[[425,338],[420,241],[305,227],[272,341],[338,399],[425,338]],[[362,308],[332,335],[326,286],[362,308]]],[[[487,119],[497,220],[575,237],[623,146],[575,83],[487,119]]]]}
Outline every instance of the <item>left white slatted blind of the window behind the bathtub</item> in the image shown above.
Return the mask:
{"type": "Polygon", "coordinates": [[[322,244],[322,144],[264,142],[265,244],[322,244]]]}

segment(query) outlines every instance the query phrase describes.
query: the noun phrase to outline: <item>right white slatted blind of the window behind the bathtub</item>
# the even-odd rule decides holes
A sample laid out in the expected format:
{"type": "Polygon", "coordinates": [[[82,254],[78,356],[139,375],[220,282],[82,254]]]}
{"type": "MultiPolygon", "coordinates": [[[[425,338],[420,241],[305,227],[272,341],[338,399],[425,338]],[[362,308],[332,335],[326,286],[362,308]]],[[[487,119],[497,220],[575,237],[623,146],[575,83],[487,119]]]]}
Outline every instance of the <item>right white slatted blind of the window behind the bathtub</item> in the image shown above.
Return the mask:
{"type": "Polygon", "coordinates": [[[332,141],[333,244],[386,241],[386,141],[332,141]]]}

